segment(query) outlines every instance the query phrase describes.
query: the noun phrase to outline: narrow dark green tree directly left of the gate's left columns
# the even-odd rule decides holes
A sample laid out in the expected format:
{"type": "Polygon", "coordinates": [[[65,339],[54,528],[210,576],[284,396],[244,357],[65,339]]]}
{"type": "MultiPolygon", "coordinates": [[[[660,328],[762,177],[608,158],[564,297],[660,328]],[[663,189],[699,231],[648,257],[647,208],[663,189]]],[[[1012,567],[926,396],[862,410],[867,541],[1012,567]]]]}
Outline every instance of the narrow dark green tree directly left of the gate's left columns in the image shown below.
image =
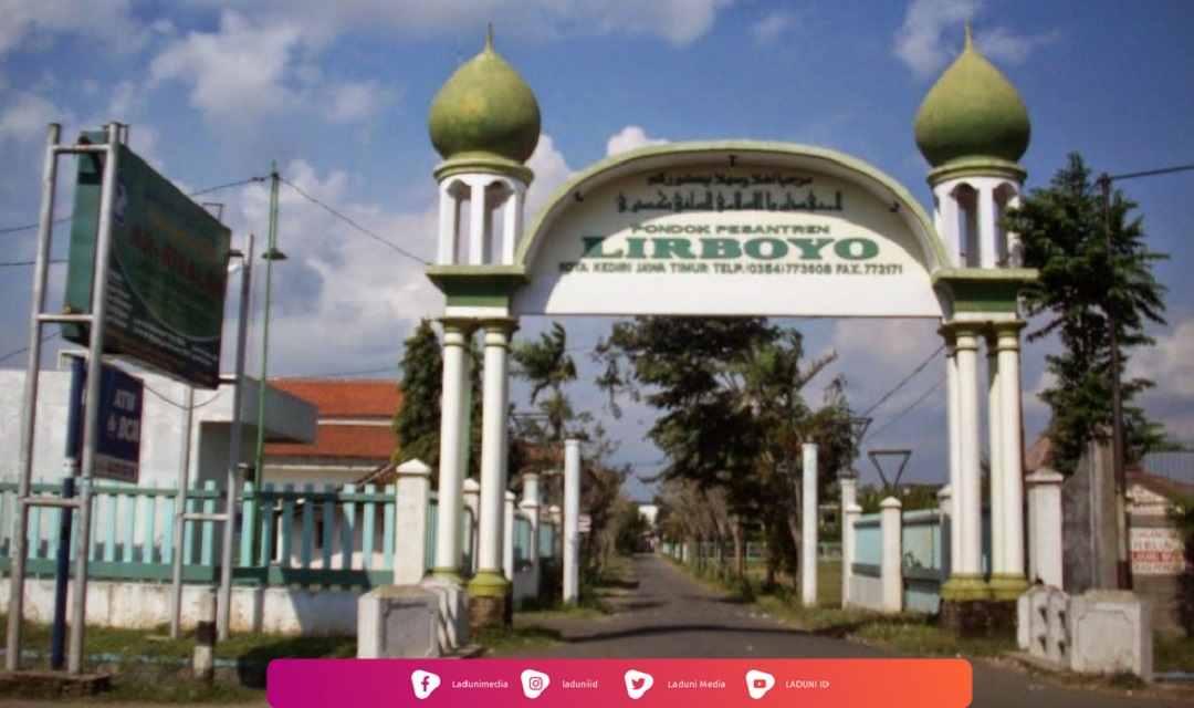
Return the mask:
{"type": "Polygon", "coordinates": [[[443,358],[439,338],[429,320],[423,320],[402,344],[402,398],[394,413],[398,450],[394,462],[421,460],[439,463],[439,395],[443,387],[443,358]]]}

